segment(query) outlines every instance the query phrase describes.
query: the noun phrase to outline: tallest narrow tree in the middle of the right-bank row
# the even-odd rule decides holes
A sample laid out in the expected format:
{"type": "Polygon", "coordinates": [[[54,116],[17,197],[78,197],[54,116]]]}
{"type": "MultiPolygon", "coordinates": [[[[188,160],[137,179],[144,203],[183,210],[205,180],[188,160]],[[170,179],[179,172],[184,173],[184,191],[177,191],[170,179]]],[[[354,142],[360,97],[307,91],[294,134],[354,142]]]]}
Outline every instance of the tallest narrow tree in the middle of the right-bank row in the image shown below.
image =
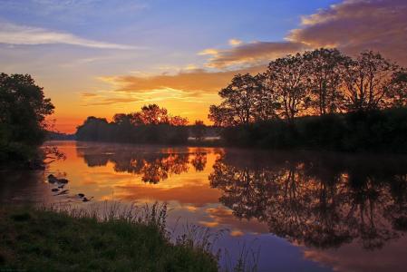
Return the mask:
{"type": "Polygon", "coordinates": [[[308,67],[308,86],[314,95],[312,105],[319,115],[338,112],[344,104],[340,88],[348,58],[337,49],[325,48],[305,52],[303,58],[308,67]]]}

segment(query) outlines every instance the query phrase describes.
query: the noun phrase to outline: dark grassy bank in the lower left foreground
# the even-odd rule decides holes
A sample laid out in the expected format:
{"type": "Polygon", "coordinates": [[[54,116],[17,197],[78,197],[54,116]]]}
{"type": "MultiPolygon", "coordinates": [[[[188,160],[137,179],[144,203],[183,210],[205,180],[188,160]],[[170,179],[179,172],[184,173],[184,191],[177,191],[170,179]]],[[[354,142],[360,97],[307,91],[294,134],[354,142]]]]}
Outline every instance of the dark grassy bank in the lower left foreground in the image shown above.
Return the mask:
{"type": "Polygon", "coordinates": [[[0,208],[0,271],[217,271],[217,258],[172,244],[165,210],[92,212],[0,208]]]}

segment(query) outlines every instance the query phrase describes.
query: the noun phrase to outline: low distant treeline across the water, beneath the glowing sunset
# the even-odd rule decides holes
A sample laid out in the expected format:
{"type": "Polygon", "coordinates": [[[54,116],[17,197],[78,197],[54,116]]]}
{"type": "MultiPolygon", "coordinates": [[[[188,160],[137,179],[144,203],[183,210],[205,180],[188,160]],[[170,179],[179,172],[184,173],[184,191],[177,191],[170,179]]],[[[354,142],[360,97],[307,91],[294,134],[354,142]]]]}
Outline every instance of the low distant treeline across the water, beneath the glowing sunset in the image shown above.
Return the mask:
{"type": "Polygon", "coordinates": [[[156,104],[140,112],[115,114],[111,122],[104,118],[88,117],[76,131],[79,141],[113,141],[127,143],[179,144],[188,141],[188,120],[170,116],[156,104]]]}

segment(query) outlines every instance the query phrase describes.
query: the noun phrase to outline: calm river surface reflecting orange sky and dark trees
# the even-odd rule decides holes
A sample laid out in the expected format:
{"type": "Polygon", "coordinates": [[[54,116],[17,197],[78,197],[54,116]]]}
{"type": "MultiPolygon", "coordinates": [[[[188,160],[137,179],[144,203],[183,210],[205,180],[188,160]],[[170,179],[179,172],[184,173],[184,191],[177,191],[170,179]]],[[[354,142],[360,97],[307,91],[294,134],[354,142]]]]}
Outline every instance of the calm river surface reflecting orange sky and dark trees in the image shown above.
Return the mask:
{"type": "Polygon", "coordinates": [[[0,172],[4,202],[166,201],[169,225],[229,232],[259,271],[405,271],[407,158],[316,152],[160,148],[53,141],[66,160],[44,172],[0,172]],[[45,177],[70,180],[53,196],[45,177]]]}

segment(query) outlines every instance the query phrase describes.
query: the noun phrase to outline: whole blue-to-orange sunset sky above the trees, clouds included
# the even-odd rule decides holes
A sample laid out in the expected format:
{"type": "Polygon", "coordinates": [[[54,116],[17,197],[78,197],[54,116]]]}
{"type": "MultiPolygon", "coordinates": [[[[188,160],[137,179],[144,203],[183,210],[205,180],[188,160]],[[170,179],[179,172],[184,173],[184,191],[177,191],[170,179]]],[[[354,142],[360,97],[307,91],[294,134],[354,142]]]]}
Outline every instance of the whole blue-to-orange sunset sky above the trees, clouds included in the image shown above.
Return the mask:
{"type": "Polygon", "coordinates": [[[0,0],[0,72],[29,73],[72,133],[158,103],[208,121],[236,73],[337,47],[407,66],[405,0],[0,0]]]}

